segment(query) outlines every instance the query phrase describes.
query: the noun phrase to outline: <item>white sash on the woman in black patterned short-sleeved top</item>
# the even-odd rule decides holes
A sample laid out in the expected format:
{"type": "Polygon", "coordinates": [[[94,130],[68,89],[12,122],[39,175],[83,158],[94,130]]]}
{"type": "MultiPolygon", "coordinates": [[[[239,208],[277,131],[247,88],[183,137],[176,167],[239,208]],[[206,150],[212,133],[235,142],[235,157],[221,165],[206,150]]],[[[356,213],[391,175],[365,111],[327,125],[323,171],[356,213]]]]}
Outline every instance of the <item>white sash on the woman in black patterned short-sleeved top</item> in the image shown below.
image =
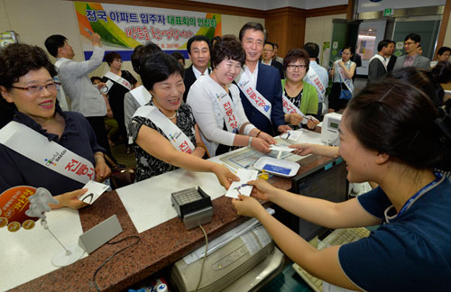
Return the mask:
{"type": "Polygon", "coordinates": [[[158,107],[152,105],[141,106],[133,116],[142,116],[150,119],[152,123],[155,123],[164,132],[175,149],[187,153],[194,151],[195,146],[188,136],[175,123],[172,123],[166,115],[162,114],[158,107]]]}

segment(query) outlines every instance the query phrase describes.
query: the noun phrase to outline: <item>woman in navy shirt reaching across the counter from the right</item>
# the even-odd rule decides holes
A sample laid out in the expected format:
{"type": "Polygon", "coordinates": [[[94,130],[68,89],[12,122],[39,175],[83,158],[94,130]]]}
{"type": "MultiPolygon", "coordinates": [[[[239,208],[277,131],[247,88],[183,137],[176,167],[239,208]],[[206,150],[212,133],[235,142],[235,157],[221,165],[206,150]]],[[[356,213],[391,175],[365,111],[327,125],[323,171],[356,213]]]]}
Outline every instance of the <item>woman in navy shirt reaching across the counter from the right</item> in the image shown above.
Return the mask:
{"type": "Polygon", "coordinates": [[[318,251],[268,214],[254,197],[234,200],[237,213],[256,217],[292,260],[337,286],[365,291],[448,290],[451,181],[433,169],[451,142],[446,138],[451,127],[438,117],[437,108],[417,87],[398,79],[375,81],[345,109],[339,154],[349,181],[374,181],[380,187],[336,204],[295,195],[262,180],[249,182],[254,197],[314,224],[329,228],[381,224],[367,238],[318,251]]]}

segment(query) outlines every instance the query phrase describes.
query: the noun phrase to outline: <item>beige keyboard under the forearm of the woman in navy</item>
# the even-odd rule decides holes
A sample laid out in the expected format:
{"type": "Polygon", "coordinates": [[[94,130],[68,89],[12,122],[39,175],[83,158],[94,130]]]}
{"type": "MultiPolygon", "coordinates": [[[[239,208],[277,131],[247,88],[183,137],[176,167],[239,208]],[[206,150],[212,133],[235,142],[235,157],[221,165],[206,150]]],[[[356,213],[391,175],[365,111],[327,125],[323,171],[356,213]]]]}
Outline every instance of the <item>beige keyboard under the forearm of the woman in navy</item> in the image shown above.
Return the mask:
{"type": "MultiPolygon", "coordinates": [[[[364,227],[336,229],[332,233],[327,235],[324,240],[319,241],[317,236],[309,243],[316,247],[318,250],[322,250],[333,245],[356,242],[361,238],[368,237],[369,235],[370,231],[364,227]]],[[[297,263],[293,263],[292,267],[314,291],[323,291],[323,280],[311,276],[310,274],[308,274],[307,270],[299,267],[297,263]]]]}

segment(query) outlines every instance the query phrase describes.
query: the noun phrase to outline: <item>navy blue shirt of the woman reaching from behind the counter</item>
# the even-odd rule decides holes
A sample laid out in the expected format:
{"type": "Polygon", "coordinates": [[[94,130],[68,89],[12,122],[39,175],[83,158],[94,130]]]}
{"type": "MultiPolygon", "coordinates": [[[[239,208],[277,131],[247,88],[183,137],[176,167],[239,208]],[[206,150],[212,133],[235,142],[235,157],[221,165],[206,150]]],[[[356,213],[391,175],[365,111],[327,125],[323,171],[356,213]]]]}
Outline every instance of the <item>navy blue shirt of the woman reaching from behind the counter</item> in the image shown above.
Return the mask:
{"type": "MultiPolygon", "coordinates": [[[[367,212],[385,221],[384,211],[391,202],[381,187],[357,199],[367,212]]],[[[342,269],[366,291],[448,291],[450,212],[451,181],[444,178],[368,238],[341,246],[342,269]]]]}

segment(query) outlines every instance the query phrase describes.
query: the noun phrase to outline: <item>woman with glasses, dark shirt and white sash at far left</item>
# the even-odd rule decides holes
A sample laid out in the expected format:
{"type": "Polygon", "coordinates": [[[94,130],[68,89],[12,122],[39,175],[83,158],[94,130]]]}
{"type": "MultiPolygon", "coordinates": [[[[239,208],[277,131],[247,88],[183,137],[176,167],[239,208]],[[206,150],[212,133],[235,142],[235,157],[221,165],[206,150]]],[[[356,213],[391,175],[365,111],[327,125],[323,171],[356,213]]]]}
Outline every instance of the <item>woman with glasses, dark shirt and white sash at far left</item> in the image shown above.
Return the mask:
{"type": "Polygon", "coordinates": [[[0,194],[16,186],[45,187],[59,201],[52,208],[78,209],[88,180],[111,170],[86,118],[57,103],[57,74],[37,46],[10,44],[0,50],[0,93],[17,111],[0,130],[0,194]]]}

